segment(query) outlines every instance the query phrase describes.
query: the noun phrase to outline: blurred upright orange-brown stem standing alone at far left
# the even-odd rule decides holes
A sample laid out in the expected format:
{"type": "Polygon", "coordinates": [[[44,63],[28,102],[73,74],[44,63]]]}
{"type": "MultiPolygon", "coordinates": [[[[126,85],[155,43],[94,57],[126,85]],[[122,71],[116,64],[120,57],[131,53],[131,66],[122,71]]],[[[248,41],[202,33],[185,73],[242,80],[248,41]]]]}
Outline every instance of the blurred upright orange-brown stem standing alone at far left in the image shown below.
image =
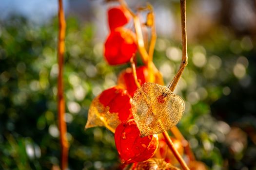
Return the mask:
{"type": "Polygon", "coordinates": [[[59,117],[59,132],[60,132],[60,147],[61,147],[61,170],[68,168],[68,140],[66,136],[67,127],[64,121],[65,115],[65,100],[63,95],[63,62],[64,62],[64,50],[65,50],[65,16],[63,11],[62,0],[59,0],[59,39],[58,39],[58,64],[59,64],[59,75],[58,75],[58,117],[59,117]]]}

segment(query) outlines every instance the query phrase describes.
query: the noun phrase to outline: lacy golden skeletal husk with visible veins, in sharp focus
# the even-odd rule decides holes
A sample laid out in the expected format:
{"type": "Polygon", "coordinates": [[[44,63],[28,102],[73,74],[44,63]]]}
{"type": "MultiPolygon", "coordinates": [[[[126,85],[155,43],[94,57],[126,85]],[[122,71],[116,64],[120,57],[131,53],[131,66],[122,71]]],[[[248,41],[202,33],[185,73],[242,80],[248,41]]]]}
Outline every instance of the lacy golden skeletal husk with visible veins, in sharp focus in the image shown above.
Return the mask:
{"type": "Polygon", "coordinates": [[[171,129],[182,118],[185,104],[166,86],[145,83],[133,97],[132,113],[141,136],[171,129]]]}

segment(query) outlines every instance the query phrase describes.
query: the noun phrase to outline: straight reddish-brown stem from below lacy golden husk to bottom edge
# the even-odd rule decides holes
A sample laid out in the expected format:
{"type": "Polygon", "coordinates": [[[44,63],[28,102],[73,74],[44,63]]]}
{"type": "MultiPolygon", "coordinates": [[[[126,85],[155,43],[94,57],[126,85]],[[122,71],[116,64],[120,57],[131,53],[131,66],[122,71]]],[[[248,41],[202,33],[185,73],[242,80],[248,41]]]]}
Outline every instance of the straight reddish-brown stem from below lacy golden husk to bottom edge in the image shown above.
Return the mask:
{"type": "Polygon", "coordinates": [[[175,146],[173,144],[173,141],[171,140],[171,138],[168,135],[167,131],[163,132],[162,134],[163,134],[163,136],[165,138],[165,141],[166,141],[168,147],[171,149],[172,153],[174,154],[174,156],[176,157],[177,161],[181,165],[181,168],[183,170],[189,170],[187,164],[185,163],[185,161],[182,159],[182,157],[178,153],[177,149],[175,148],[175,146]]]}

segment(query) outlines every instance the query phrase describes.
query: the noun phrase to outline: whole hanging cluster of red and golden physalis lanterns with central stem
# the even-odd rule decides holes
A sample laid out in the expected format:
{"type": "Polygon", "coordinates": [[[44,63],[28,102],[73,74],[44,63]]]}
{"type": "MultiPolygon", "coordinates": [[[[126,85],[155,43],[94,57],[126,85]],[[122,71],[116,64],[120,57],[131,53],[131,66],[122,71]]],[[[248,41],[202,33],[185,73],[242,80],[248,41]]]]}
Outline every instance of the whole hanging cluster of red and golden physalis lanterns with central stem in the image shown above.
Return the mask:
{"type": "MultiPolygon", "coordinates": [[[[109,0],[107,0],[109,1],[109,0]]],[[[145,48],[141,27],[154,31],[154,13],[151,5],[141,8],[147,19],[140,21],[122,0],[108,9],[110,33],[104,44],[104,58],[109,65],[131,63],[131,68],[120,71],[117,85],[104,90],[91,103],[85,128],[105,126],[115,135],[116,148],[125,167],[133,170],[178,170],[176,158],[162,136],[181,119],[184,101],[166,86],[152,58],[155,41],[145,48]],[[126,27],[134,22],[134,32],[126,27]],[[136,68],[136,52],[143,66],[136,68]],[[150,52],[151,51],[151,52],[150,52]],[[172,165],[173,164],[173,165],[172,165]]],[[[131,26],[130,26],[131,27],[131,26]]],[[[183,146],[178,139],[178,152],[183,146]]],[[[176,146],[175,146],[176,147],[176,146]]]]}

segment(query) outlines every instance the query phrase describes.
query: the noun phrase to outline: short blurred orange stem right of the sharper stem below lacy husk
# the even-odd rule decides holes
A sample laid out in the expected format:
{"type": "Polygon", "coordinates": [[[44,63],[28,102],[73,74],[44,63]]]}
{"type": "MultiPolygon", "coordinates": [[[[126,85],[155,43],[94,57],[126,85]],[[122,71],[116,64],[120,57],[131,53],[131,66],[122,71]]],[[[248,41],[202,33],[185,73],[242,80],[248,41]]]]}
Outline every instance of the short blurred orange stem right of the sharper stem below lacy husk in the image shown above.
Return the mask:
{"type": "Polygon", "coordinates": [[[195,161],[196,158],[195,158],[195,155],[194,153],[192,152],[191,148],[190,148],[190,145],[189,145],[189,142],[184,138],[184,136],[180,133],[180,131],[178,130],[177,126],[174,126],[172,129],[171,129],[171,132],[173,133],[173,135],[181,141],[182,143],[182,146],[185,150],[185,153],[188,155],[189,157],[189,160],[190,161],[195,161]]]}

